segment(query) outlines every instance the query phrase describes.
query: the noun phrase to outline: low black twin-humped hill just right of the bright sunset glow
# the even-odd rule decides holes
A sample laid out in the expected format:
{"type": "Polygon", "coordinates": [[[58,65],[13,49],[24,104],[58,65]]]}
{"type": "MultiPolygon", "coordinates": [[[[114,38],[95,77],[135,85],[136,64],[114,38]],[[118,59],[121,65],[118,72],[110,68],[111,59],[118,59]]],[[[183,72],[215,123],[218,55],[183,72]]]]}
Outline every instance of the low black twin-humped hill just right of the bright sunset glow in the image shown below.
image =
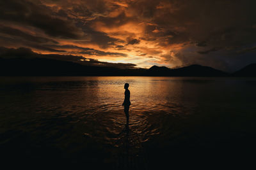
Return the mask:
{"type": "Polygon", "coordinates": [[[228,76],[227,73],[212,67],[191,65],[177,69],[152,66],[147,70],[148,76],[228,76]]]}

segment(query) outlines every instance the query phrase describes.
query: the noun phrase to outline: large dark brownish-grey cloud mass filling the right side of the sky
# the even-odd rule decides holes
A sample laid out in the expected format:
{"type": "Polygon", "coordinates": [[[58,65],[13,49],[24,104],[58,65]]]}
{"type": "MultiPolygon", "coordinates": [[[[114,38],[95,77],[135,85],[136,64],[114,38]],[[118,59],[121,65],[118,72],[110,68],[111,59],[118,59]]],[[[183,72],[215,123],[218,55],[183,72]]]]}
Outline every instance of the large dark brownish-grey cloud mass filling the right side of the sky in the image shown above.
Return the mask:
{"type": "MultiPolygon", "coordinates": [[[[157,38],[161,46],[166,43],[182,44],[182,48],[175,53],[183,65],[205,64],[227,70],[228,64],[232,67],[241,64],[237,62],[239,56],[235,57],[236,50],[256,43],[256,29],[253,26],[256,23],[256,13],[253,9],[256,1],[157,1],[157,4],[154,2],[156,8],[152,7],[151,1],[139,2],[141,5],[143,2],[145,4],[141,11],[140,7],[134,5],[138,15],[147,20],[150,18],[153,23],[150,27],[156,27],[152,33],[147,32],[147,39],[157,38]],[[191,43],[195,43],[195,46],[191,43]],[[216,48],[205,48],[207,46],[216,48]],[[200,57],[202,54],[209,56],[200,57]]],[[[252,52],[250,49],[244,50],[249,51],[252,52]]],[[[240,57],[241,60],[244,59],[240,57]]],[[[247,59],[255,61],[252,58],[247,59]]]]}

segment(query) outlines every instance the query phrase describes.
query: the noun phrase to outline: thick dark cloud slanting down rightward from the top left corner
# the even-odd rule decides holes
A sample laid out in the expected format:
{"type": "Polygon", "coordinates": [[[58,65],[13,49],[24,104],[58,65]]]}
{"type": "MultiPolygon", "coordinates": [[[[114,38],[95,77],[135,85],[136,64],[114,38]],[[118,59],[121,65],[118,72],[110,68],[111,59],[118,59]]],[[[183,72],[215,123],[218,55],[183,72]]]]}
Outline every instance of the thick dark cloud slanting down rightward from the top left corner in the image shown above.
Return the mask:
{"type": "Polygon", "coordinates": [[[61,38],[79,38],[78,29],[72,20],[57,17],[49,8],[33,1],[0,1],[0,20],[28,24],[42,29],[49,36],[61,38]]]}

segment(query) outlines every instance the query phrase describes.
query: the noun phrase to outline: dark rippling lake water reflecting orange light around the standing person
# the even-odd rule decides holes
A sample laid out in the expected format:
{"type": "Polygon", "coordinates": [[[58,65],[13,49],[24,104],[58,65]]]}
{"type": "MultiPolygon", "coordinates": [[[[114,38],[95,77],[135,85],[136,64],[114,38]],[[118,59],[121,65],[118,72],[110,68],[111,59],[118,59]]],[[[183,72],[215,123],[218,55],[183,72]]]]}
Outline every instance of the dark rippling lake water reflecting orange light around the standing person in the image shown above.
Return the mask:
{"type": "Polygon", "coordinates": [[[254,166],[255,87],[255,78],[1,77],[1,164],[254,166]]]}

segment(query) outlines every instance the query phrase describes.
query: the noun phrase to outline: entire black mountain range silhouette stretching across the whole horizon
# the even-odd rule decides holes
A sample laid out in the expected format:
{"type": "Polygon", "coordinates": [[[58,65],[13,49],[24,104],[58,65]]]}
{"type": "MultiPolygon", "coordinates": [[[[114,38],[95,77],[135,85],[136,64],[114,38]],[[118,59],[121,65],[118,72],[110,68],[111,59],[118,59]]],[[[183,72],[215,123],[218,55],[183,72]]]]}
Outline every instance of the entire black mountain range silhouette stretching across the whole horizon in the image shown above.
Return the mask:
{"type": "Polygon", "coordinates": [[[212,67],[191,65],[170,69],[152,66],[149,69],[85,66],[76,62],[44,58],[0,58],[0,76],[256,76],[256,64],[234,74],[212,67]]]}

